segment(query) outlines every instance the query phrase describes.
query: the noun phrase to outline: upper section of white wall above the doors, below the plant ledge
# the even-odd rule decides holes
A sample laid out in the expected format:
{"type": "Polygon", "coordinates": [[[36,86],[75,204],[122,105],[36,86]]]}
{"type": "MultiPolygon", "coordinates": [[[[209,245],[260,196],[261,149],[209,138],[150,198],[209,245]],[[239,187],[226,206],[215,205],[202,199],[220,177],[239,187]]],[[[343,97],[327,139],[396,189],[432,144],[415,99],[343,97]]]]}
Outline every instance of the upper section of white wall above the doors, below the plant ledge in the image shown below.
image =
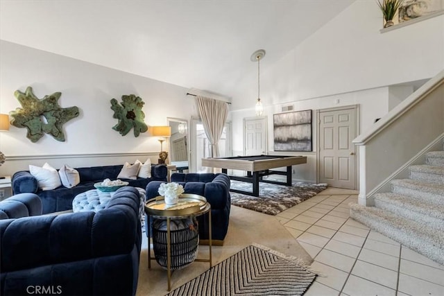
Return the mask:
{"type": "MultiPolygon", "coordinates": [[[[444,15],[380,33],[375,1],[358,0],[275,64],[261,62],[264,105],[429,79],[444,69],[444,15]]],[[[252,67],[252,77],[257,75],[252,67]]],[[[256,78],[257,79],[257,78],[256,78]]],[[[254,106],[255,80],[233,98],[254,106]],[[239,99],[241,98],[241,99],[239,99]]]]}

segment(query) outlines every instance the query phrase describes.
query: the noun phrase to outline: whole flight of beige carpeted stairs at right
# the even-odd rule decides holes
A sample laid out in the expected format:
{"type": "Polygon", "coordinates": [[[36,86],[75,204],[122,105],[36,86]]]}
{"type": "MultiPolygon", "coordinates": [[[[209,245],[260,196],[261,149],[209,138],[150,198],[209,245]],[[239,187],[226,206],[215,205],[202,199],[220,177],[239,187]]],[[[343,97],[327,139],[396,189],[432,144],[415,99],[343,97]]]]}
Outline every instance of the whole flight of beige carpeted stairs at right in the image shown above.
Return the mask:
{"type": "Polygon", "coordinates": [[[444,264],[444,151],[427,153],[409,176],[375,194],[375,207],[350,204],[350,217],[444,264]]]}

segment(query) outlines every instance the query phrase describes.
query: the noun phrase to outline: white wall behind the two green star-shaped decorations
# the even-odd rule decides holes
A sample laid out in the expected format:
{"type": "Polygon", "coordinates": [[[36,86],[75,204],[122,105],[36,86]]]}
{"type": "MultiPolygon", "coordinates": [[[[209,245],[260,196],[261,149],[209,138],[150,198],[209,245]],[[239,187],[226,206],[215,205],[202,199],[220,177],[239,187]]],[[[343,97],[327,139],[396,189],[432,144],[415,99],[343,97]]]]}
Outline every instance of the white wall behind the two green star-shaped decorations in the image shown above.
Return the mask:
{"type": "MultiPolygon", "coordinates": [[[[32,143],[26,138],[26,129],[11,125],[9,132],[0,133],[0,151],[7,159],[39,155],[158,153],[160,143],[155,137],[148,137],[146,133],[135,137],[133,130],[122,137],[112,130],[117,119],[112,118],[114,112],[110,109],[110,100],[116,98],[121,102],[124,94],[135,94],[143,99],[147,125],[167,125],[167,117],[190,119],[197,114],[193,100],[186,96],[187,89],[176,85],[3,40],[0,43],[0,60],[0,113],[8,114],[22,107],[14,92],[17,89],[24,92],[28,86],[33,87],[38,98],[62,92],[58,102],[61,107],[78,106],[80,109],[80,115],[64,125],[65,142],[45,134],[42,139],[32,143]]],[[[41,165],[44,159],[27,163],[31,162],[41,165]]],[[[89,164],[96,165],[104,162],[100,157],[88,160],[89,164]]],[[[112,159],[107,162],[112,162],[112,159]]],[[[116,159],[114,164],[120,162],[121,159],[116,159]]],[[[68,162],[74,167],[78,163],[75,158],[68,162]]],[[[7,160],[0,167],[0,175],[10,175],[18,169],[23,167],[8,166],[7,160]]]]}

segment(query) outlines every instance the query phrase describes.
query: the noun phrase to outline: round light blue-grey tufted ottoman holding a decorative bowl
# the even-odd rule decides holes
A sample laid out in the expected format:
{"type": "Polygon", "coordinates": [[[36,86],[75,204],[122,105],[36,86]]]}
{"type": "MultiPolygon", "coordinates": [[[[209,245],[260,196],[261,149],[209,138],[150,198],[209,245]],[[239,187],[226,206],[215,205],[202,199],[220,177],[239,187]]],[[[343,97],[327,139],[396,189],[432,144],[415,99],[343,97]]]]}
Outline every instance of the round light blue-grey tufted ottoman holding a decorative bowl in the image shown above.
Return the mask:
{"type": "MultiPolygon", "coordinates": [[[[139,206],[139,218],[142,218],[144,213],[145,202],[145,190],[139,187],[135,187],[139,191],[140,206],[139,206]]],[[[72,211],[74,213],[78,211],[101,211],[105,209],[108,202],[110,202],[114,192],[102,192],[98,189],[92,189],[76,195],[72,201],[72,211]]]]}

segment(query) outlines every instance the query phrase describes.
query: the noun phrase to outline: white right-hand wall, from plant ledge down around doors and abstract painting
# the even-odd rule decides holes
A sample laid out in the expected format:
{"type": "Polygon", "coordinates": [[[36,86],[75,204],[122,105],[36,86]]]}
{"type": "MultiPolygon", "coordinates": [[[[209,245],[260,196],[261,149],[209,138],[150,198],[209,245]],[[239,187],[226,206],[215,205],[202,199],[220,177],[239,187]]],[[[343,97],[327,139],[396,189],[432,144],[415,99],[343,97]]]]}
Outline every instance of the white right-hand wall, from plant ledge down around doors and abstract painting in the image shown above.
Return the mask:
{"type": "MultiPolygon", "coordinates": [[[[409,85],[393,85],[427,80],[444,69],[444,15],[386,33],[380,33],[381,28],[377,4],[358,0],[278,63],[267,65],[264,58],[261,98],[268,116],[269,151],[273,114],[282,112],[282,105],[316,110],[359,104],[363,132],[413,91],[409,85]]],[[[245,87],[244,94],[233,98],[234,127],[254,116],[256,91],[245,87]]],[[[316,132],[313,137],[316,150],[316,132]]],[[[242,130],[234,128],[235,155],[243,150],[241,139],[242,130]]],[[[309,163],[295,166],[294,178],[316,182],[315,153],[287,154],[307,155],[309,163]]]]}

